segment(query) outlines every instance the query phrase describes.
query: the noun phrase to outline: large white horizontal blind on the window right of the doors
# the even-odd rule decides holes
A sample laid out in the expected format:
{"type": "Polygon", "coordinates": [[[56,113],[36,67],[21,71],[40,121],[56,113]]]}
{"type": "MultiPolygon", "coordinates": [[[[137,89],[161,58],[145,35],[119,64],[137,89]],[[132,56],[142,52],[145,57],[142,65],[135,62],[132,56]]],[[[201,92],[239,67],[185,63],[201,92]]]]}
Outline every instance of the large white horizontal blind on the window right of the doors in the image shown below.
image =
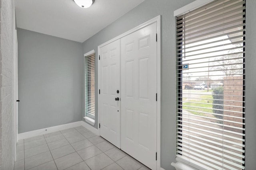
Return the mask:
{"type": "Polygon", "coordinates": [[[176,155],[202,169],[245,165],[245,0],[177,17],[176,155]]]}

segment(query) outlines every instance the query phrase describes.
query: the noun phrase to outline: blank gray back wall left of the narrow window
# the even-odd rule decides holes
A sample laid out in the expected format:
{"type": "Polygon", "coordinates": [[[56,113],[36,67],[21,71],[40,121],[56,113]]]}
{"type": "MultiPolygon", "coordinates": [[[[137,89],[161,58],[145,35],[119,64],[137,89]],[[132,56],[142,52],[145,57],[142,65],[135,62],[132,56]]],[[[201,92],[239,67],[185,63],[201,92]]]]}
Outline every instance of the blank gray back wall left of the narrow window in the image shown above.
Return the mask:
{"type": "Polygon", "coordinates": [[[18,28],[18,133],[82,120],[82,43],[18,28]]]}

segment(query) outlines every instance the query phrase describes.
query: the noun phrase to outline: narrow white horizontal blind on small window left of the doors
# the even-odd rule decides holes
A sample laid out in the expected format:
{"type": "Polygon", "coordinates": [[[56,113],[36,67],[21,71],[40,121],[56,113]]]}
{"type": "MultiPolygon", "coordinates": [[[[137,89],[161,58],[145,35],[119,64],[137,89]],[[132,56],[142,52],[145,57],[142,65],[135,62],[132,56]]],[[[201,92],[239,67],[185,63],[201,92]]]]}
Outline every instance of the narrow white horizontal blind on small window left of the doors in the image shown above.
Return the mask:
{"type": "Polygon", "coordinates": [[[95,118],[95,53],[85,57],[85,115],[95,118]]]}

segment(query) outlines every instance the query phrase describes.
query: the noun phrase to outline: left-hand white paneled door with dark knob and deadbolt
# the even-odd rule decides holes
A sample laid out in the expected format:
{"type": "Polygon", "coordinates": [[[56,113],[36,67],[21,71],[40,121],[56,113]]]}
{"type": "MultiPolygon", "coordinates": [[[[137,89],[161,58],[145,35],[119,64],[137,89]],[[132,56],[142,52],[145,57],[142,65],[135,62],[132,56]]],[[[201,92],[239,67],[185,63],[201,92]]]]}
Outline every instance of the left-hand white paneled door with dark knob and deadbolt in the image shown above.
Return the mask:
{"type": "Polygon", "coordinates": [[[120,148],[120,39],[99,54],[100,136],[120,148]]]}

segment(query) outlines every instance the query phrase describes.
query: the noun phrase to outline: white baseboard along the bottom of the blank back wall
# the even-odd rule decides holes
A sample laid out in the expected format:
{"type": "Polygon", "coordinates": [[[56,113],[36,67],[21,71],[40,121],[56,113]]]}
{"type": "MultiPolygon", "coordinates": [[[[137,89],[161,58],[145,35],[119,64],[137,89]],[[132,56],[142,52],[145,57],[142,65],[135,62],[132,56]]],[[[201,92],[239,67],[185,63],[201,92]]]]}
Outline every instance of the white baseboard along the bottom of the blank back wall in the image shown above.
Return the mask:
{"type": "Polygon", "coordinates": [[[19,133],[18,140],[35,137],[38,135],[44,135],[44,134],[52,133],[52,132],[56,132],[56,131],[61,131],[61,130],[72,128],[72,127],[81,126],[82,122],[84,122],[84,121],[77,121],[77,122],[73,122],[73,123],[67,123],[64,125],[58,125],[58,126],[53,126],[53,127],[47,127],[44,129],[38,129],[38,130],[34,130],[34,131],[19,133]]]}

